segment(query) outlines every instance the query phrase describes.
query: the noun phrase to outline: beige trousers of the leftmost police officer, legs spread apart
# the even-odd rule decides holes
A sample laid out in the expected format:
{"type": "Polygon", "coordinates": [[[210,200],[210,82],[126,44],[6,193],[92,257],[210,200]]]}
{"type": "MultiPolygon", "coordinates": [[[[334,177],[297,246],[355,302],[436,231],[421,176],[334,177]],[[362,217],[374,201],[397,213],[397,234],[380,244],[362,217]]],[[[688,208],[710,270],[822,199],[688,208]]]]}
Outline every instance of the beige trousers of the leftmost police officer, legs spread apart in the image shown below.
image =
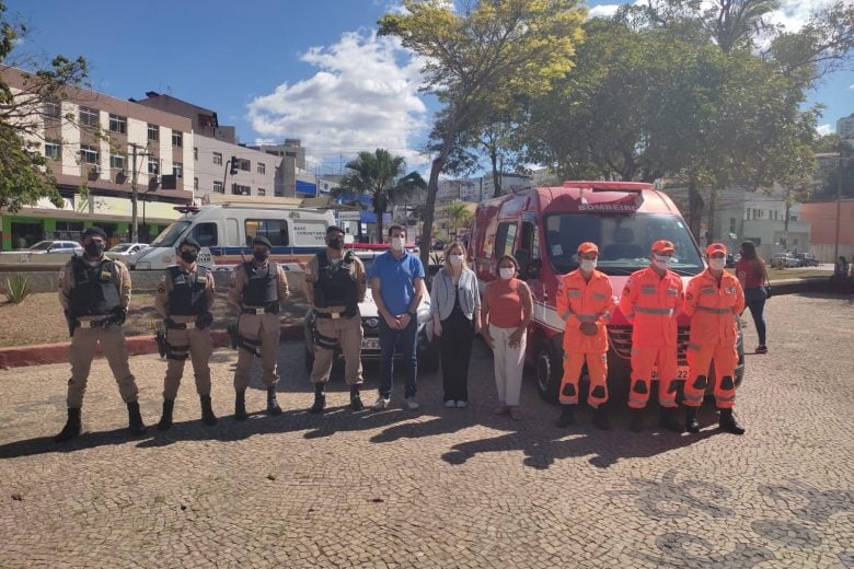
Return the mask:
{"type": "Polygon", "coordinates": [[[128,365],[127,344],[122,326],[109,324],[103,328],[74,329],[71,337],[71,347],[68,361],[71,363],[71,379],[68,380],[68,406],[80,408],[83,406],[83,394],[86,391],[89,370],[92,368],[92,358],[95,355],[95,346],[101,342],[109,370],[118,384],[118,393],[125,403],[137,400],[139,390],[134,374],[128,365]]]}

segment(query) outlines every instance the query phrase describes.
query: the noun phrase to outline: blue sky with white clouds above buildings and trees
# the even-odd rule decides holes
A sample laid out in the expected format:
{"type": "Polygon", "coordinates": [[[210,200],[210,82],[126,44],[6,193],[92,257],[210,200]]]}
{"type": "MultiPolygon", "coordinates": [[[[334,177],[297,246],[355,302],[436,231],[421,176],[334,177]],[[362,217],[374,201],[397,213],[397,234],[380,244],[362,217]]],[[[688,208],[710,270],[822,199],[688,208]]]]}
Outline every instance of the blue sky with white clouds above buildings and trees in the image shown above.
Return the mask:
{"type": "MultiPolygon", "coordinates": [[[[778,21],[798,25],[830,1],[783,0],[778,21]]],[[[82,55],[97,91],[158,91],[212,108],[243,142],[299,138],[323,171],[376,147],[423,160],[432,107],[417,94],[418,63],[373,33],[392,0],[5,3],[30,30],[20,53],[82,55]]],[[[820,130],[833,131],[854,113],[854,72],[829,77],[810,100],[827,107],[820,130]]]]}

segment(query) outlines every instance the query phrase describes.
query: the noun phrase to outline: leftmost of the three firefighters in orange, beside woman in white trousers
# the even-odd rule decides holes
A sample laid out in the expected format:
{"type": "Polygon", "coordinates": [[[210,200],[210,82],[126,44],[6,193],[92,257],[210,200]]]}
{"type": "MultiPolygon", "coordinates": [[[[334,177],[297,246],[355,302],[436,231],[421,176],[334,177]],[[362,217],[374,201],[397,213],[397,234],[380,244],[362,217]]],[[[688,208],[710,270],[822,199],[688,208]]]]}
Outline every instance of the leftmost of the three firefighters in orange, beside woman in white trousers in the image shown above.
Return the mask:
{"type": "Polygon", "coordinates": [[[608,430],[604,404],[608,402],[608,330],[605,324],[615,306],[611,280],[596,270],[599,247],[595,243],[578,245],[578,268],[561,279],[557,313],[566,321],[564,329],[564,376],[559,402],[563,405],[558,427],[575,422],[578,405],[578,380],[587,363],[590,391],[587,403],[596,409],[593,425],[608,430]]]}

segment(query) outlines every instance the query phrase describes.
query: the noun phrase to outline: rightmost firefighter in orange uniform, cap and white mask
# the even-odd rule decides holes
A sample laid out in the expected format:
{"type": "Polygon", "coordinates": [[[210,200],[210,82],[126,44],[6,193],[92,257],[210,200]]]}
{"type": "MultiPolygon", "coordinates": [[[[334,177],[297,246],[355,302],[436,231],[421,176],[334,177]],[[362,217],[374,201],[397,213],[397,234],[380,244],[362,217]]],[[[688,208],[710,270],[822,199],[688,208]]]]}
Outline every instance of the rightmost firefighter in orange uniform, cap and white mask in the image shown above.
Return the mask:
{"type": "Polygon", "coordinates": [[[696,413],[703,403],[712,361],[715,362],[715,402],[720,409],[720,428],[743,434],[745,429],[732,416],[736,405],[736,365],[738,365],[738,321],[745,310],[745,292],[738,279],[724,270],[727,247],[713,243],[706,247],[708,268],[691,279],[685,291],[684,312],[691,316],[691,339],[685,382],[685,427],[699,432],[696,413]]]}

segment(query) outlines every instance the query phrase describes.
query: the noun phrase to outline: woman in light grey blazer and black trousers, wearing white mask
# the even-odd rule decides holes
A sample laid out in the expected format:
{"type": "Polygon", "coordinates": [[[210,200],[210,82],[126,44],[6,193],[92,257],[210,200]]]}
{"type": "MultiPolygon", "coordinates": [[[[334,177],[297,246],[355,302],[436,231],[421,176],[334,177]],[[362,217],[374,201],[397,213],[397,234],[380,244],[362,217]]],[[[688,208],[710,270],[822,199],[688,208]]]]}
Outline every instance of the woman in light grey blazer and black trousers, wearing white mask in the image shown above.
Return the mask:
{"type": "Polygon", "coordinates": [[[472,344],[481,332],[481,292],[459,242],[446,247],[445,266],[432,279],[430,313],[432,332],[439,336],[445,406],[465,407],[472,344]]]}

